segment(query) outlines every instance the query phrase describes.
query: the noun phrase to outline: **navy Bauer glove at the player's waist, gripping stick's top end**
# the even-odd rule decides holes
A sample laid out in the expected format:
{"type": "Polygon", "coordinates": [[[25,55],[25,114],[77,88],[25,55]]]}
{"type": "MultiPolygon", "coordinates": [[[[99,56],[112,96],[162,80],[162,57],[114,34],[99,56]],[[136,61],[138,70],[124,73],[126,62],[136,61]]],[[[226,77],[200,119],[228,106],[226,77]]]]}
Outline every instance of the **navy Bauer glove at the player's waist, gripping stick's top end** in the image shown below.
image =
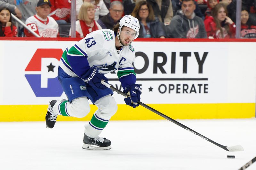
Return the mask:
{"type": "Polygon", "coordinates": [[[107,89],[105,85],[101,84],[101,80],[108,81],[108,78],[98,71],[99,70],[97,68],[91,67],[87,71],[88,74],[86,75],[84,81],[93,87],[97,87],[99,89],[107,89]]]}

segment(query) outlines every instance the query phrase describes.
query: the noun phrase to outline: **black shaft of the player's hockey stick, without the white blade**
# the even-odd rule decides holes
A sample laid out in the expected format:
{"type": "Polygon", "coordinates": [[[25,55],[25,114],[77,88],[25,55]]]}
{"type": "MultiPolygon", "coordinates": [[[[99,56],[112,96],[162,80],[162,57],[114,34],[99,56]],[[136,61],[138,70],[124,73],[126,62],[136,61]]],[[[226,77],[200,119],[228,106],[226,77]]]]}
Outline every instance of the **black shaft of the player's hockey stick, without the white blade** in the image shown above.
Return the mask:
{"type": "MultiPolygon", "coordinates": [[[[122,91],[116,89],[116,88],[113,87],[112,85],[110,85],[110,89],[116,91],[117,93],[119,93],[119,94],[121,94],[121,95],[123,95],[123,96],[128,96],[127,94],[125,94],[124,92],[122,92],[122,91]]],[[[200,133],[198,133],[198,132],[196,132],[196,131],[190,129],[189,127],[185,126],[184,124],[181,124],[180,122],[178,122],[178,121],[172,119],[171,117],[168,117],[168,116],[164,115],[163,113],[161,113],[161,112],[159,112],[159,111],[153,109],[152,107],[150,107],[150,106],[148,106],[148,105],[146,105],[146,104],[144,104],[144,103],[142,103],[142,102],[138,102],[138,103],[139,103],[141,106],[147,108],[148,110],[153,111],[154,113],[158,114],[159,116],[164,117],[165,119],[171,121],[172,123],[177,124],[178,126],[184,128],[184,129],[186,129],[187,131],[190,131],[191,133],[194,133],[196,136],[199,136],[200,138],[203,138],[203,139],[207,140],[208,142],[211,142],[211,143],[213,143],[214,145],[217,145],[217,146],[219,146],[220,148],[222,148],[222,149],[224,149],[224,150],[226,150],[226,151],[229,151],[228,148],[227,148],[227,146],[220,145],[220,144],[218,144],[217,142],[214,142],[213,140],[211,140],[211,139],[209,139],[209,138],[206,138],[204,135],[202,135],[202,134],[200,134],[200,133]]]]}

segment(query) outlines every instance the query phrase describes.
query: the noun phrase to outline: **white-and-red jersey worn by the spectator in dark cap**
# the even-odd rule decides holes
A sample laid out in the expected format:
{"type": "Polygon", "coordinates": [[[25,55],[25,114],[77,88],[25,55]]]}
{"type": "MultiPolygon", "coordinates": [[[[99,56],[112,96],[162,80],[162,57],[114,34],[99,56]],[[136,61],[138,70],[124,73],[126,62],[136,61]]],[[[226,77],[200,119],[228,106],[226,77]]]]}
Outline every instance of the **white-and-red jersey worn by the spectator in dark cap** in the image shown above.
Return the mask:
{"type": "MultiPolygon", "coordinates": [[[[59,26],[52,17],[46,19],[40,18],[38,15],[29,17],[26,25],[41,37],[55,38],[59,32],[59,26]]],[[[35,37],[31,32],[25,29],[26,37],[35,37]]]]}

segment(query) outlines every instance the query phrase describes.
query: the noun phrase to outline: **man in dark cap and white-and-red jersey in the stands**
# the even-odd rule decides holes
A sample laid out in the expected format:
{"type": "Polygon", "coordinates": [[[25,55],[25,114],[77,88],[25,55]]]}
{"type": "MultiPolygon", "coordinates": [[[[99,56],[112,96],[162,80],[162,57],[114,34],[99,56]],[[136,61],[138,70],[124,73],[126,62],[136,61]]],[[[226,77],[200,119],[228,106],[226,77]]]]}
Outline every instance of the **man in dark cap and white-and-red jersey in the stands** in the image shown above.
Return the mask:
{"type": "MultiPolygon", "coordinates": [[[[57,22],[48,15],[51,12],[51,3],[49,0],[39,0],[36,7],[36,15],[26,20],[26,25],[36,32],[40,37],[57,37],[59,26],[57,22]]],[[[27,37],[35,37],[27,29],[24,30],[27,37]]]]}

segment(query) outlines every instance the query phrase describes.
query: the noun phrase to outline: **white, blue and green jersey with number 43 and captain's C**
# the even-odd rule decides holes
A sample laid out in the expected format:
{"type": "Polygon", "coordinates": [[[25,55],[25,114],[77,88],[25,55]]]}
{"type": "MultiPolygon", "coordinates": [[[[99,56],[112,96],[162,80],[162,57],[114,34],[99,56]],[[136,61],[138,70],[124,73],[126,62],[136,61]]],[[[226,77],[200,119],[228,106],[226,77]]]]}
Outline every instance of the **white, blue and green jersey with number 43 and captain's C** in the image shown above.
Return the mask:
{"type": "Polygon", "coordinates": [[[133,84],[136,81],[132,66],[134,60],[132,45],[121,46],[120,50],[116,50],[114,31],[101,29],[87,34],[74,46],[66,48],[59,65],[68,75],[80,77],[84,81],[86,65],[99,68],[99,72],[103,74],[117,70],[122,86],[126,87],[126,84],[133,84]]]}

